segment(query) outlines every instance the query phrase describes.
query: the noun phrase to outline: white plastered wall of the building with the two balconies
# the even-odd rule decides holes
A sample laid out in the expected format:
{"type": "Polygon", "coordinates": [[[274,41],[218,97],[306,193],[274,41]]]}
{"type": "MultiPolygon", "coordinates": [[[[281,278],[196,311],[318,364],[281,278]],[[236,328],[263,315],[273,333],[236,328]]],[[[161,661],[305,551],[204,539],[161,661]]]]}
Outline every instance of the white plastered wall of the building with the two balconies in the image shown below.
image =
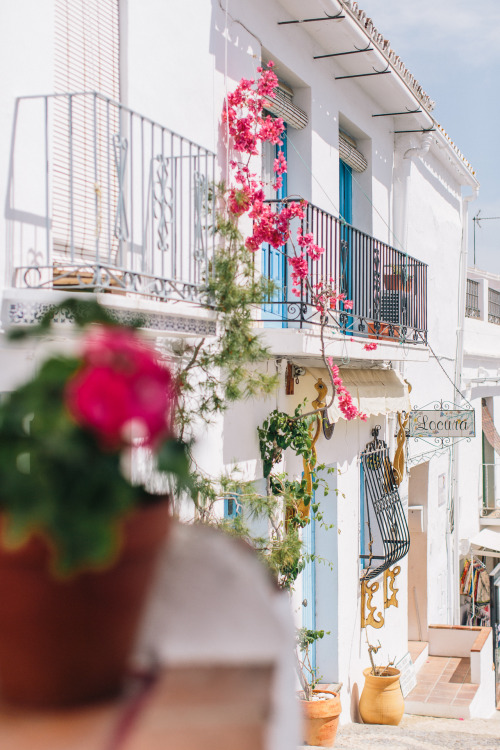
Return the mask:
{"type": "MultiPolygon", "coordinates": [[[[341,70],[340,64],[313,60],[318,47],[304,28],[307,25],[277,25],[284,14],[281,5],[266,0],[252,3],[233,0],[228,13],[224,8],[225,3],[217,0],[210,3],[192,0],[176,3],[174,14],[172,4],[164,0],[122,0],[124,102],[215,151],[220,175],[224,176],[226,152],[220,124],[224,96],[241,77],[256,77],[261,57],[275,60],[278,76],[293,87],[294,102],[309,117],[304,130],[290,130],[289,193],[301,195],[337,215],[339,126],[357,139],[368,168],[354,175],[354,225],[429,264],[429,342],[441,366],[433,358],[428,362],[415,362],[410,345],[393,347],[393,364],[400,367],[413,386],[412,404],[423,406],[439,399],[455,401],[451,381],[459,321],[460,185],[466,182],[465,178],[446,162],[435,143],[427,154],[413,154],[413,159],[405,159],[409,149],[420,148],[420,136],[395,138],[393,119],[373,118],[374,113],[383,111],[386,106],[382,89],[367,93],[355,80],[335,81],[334,74],[341,70]]],[[[4,105],[0,120],[2,205],[5,204],[9,169],[13,98],[53,89],[52,2],[22,0],[11,3],[5,13],[8,13],[8,23],[0,28],[0,55],[4,59],[3,69],[9,70],[10,75],[4,76],[0,83],[4,105]],[[27,48],[29,56],[25,52],[27,48]],[[37,61],[36,65],[32,60],[37,61]]],[[[29,186],[23,197],[29,206],[29,186]]],[[[33,200],[39,201],[40,195],[35,193],[33,200]]],[[[1,221],[0,229],[5,236],[10,230],[3,217],[1,221]]],[[[475,321],[470,322],[476,325],[475,321]]],[[[473,339],[475,345],[478,344],[476,332],[473,339]]],[[[487,346],[485,339],[481,352],[487,346]]],[[[389,359],[386,356],[386,365],[389,359]]],[[[363,361],[366,365],[367,360],[363,361]]],[[[377,364],[381,362],[374,354],[373,365],[377,364]]],[[[272,371],[274,361],[270,361],[268,367],[272,371]]],[[[198,447],[202,467],[216,476],[238,464],[245,478],[261,479],[257,426],[275,406],[291,412],[305,395],[311,394],[305,392],[301,383],[294,397],[285,396],[282,383],[272,398],[231,407],[223,420],[204,432],[198,447]]],[[[500,419],[500,408],[495,410],[497,417],[500,419]]],[[[318,443],[319,461],[340,470],[330,479],[340,494],[332,493],[323,500],[325,520],[329,519],[336,528],[325,533],[318,530],[317,536],[318,554],[333,565],[332,570],[320,564],[316,569],[317,627],[331,631],[318,644],[318,666],[325,680],[344,682],[344,719],[354,715],[357,695],[362,688],[362,669],[368,665],[365,633],[360,629],[359,453],[371,440],[375,424],[382,424],[381,437],[392,444],[394,425],[391,422],[389,429],[385,418],[372,418],[366,424],[340,421],[332,440],[327,442],[321,437],[318,443]]],[[[476,438],[467,447],[460,448],[460,456],[467,465],[469,461],[478,461],[478,445],[479,438],[476,438]]],[[[432,446],[412,443],[411,455],[431,449],[432,446]]],[[[429,460],[428,623],[451,622],[451,588],[456,581],[452,578],[449,583],[453,557],[452,538],[448,534],[450,458],[447,454],[432,453],[417,460],[429,460]],[[447,497],[445,504],[440,505],[438,481],[443,474],[447,478],[447,497]]],[[[301,461],[287,456],[285,467],[300,476],[301,461]]],[[[471,510],[476,503],[475,498],[471,499],[475,479],[471,478],[471,473],[465,471],[464,463],[461,466],[460,535],[466,533],[475,517],[471,510]]],[[[405,504],[415,504],[411,494],[407,497],[406,480],[401,495],[405,504]]],[[[378,609],[385,615],[385,625],[380,630],[370,629],[369,638],[372,643],[381,641],[381,663],[389,658],[397,660],[407,650],[407,561],[401,561],[400,565],[399,607],[383,611],[382,585],[375,598],[378,609]]],[[[300,604],[300,583],[294,601],[300,604]]]]}

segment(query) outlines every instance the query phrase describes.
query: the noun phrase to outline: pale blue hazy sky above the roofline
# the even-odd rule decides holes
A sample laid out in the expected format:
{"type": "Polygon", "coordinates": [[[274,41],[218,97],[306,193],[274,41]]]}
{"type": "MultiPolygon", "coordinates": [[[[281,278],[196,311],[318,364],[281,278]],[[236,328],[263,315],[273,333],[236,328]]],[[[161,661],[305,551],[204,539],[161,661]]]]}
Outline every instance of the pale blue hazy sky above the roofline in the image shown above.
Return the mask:
{"type": "MultiPolygon", "coordinates": [[[[436,102],[434,116],[475,169],[481,188],[471,218],[479,210],[500,217],[500,0],[359,0],[359,7],[436,102]]],[[[476,230],[476,265],[500,274],[500,220],[476,230]]]]}

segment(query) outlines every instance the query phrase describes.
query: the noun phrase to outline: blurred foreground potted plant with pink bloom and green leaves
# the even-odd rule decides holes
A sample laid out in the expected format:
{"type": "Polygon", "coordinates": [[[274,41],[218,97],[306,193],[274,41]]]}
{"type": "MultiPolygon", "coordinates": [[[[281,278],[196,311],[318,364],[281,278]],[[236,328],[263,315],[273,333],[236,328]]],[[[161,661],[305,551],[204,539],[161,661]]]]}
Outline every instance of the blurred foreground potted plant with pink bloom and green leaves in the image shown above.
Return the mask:
{"type": "Polygon", "coordinates": [[[57,314],[92,324],[78,352],[0,405],[0,690],[34,706],[120,690],[170,518],[124,467],[139,444],[188,477],[170,370],[97,303],[63,303],[36,330],[57,314]]]}

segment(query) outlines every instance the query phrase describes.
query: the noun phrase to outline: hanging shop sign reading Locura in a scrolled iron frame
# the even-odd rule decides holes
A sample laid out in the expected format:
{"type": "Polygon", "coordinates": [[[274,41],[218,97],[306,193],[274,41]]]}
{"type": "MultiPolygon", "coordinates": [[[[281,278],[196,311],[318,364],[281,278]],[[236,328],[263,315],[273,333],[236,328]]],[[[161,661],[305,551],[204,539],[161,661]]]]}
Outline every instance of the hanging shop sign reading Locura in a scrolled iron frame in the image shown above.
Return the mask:
{"type": "Polygon", "coordinates": [[[418,409],[410,412],[413,438],[471,438],[476,436],[474,409],[418,409]]]}

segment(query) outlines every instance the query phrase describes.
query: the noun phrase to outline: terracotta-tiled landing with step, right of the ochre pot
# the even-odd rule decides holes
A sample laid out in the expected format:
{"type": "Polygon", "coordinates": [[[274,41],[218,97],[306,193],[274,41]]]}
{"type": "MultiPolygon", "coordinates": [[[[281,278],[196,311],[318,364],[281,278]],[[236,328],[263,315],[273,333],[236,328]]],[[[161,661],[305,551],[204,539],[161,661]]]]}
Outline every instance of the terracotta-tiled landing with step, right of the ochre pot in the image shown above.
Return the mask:
{"type": "Polygon", "coordinates": [[[416,687],[406,700],[468,706],[477,688],[470,683],[470,659],[429,656],[417,673],[416,687]]]}

